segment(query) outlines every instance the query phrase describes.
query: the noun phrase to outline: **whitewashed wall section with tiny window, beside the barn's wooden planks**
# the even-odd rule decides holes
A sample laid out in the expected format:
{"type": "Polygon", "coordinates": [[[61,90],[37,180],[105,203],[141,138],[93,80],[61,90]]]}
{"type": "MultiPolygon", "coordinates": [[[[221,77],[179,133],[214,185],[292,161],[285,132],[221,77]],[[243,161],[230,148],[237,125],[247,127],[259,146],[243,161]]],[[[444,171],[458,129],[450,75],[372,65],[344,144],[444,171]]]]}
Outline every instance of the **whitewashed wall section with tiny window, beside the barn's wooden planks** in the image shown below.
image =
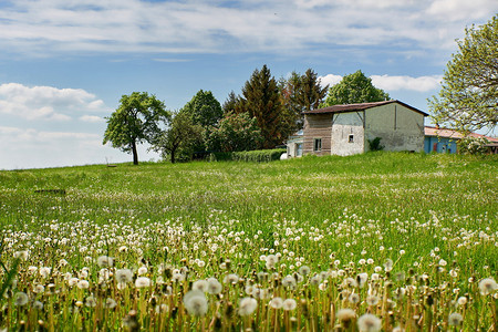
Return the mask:
{"type": "Polygon", "coordinates": [[[349,156],[364,152],[363,117],[363,111],[334,115],[331,154],[349,156]]]}

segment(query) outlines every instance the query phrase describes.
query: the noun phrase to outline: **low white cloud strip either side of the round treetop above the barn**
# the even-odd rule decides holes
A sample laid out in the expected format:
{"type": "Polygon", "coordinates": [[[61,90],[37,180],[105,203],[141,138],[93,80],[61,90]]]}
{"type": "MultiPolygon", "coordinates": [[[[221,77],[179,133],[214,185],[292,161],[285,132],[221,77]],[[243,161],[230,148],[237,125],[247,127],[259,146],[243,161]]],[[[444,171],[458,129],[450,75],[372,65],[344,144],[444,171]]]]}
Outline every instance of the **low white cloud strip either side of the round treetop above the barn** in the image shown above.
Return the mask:
{"type": "MultiPolygon", "coordinates": [[[[416,92],[427,92],[437,90],[440,86],[442,75],[433,76],[390,76],[390,75],[372,75],[372,84],[375,87],[385,91],[416,91],[416,92]]],[[[320,76],[322,86],[329,84],[330,86],[341,82],[341,75],[328,74],[325,76],[320,76]]]]}

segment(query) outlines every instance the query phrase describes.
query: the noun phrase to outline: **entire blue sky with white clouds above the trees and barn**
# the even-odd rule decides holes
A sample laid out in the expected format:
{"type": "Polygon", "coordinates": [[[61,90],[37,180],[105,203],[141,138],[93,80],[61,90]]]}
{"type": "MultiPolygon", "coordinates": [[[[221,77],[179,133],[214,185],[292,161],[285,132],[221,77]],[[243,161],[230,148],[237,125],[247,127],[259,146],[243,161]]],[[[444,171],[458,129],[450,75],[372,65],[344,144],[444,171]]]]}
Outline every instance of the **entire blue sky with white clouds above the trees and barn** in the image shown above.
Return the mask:
{"type": "Polygon", "coordinates": [[[102,144],[122,95],[177,111],[205,90],[222,104],[263,64],[323,84],[362,70],[428,112],[455,40],[497,12],[496,0],[0,0],[0,169],[131,162],[102,144]]]}

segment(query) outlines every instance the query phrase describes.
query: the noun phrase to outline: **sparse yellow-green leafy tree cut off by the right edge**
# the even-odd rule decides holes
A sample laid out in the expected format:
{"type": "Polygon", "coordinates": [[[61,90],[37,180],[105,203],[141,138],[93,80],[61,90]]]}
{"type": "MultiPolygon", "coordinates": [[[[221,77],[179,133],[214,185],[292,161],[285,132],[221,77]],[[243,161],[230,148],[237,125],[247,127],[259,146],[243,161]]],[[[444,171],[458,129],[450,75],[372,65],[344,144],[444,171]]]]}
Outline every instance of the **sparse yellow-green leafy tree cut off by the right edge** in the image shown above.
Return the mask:
{"type": "Polygon", "coordinates": [[[438,96],[429,100],[436,123],[471,132],[498,123],[498,15],[465,29],[458,52],[452,55],[438,96]]]}

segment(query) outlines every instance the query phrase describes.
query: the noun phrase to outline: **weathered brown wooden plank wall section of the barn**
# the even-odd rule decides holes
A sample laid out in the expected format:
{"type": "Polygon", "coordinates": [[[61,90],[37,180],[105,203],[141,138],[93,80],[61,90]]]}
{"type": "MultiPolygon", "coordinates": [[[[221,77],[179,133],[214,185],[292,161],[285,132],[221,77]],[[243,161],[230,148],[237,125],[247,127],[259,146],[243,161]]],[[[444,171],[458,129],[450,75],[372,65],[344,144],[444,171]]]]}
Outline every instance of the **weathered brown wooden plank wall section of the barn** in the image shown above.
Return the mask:
{"type": "Polygon", "coordinates": [[[330,155],[332,114],[307,114],[303,129],[303,154],[330,155]],[[315,138],[322,139],[322,151],[314,152],[315,138]]]}

